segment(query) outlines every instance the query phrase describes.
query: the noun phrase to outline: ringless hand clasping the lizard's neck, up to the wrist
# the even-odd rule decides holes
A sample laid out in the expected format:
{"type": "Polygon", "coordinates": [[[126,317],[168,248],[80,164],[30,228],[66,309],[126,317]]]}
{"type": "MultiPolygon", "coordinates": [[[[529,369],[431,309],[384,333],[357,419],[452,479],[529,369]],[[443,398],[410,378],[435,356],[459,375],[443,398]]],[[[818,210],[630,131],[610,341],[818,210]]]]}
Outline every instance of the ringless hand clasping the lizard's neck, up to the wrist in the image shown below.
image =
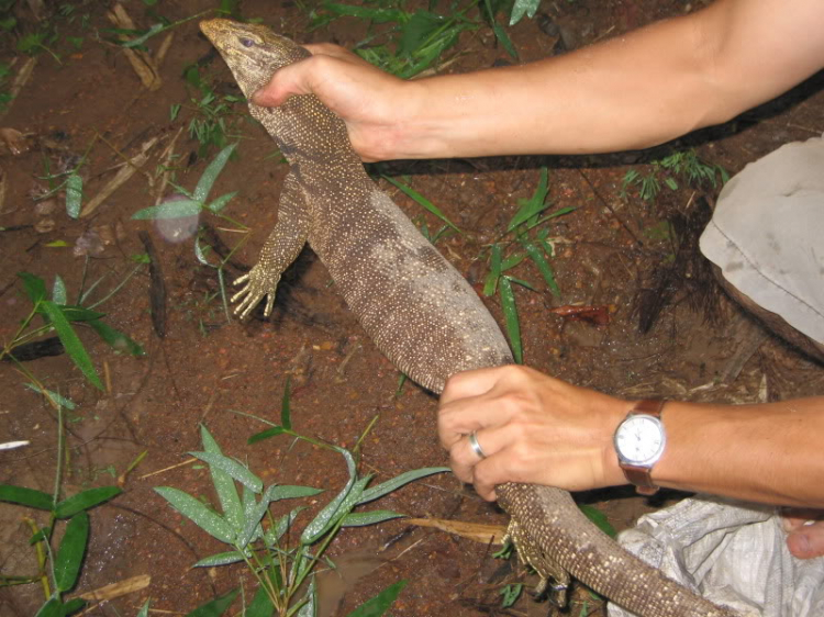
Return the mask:
{"type": "Polygon", "coordinates": [[[296,94],[314,94],[346,123],[364,161],[408,158],[396,150],[401,126],[414,109],[416,85],[393,77],[337,45],[305,45],[310,58],[277,70],[252,102],[278,106],[296,94]]]}

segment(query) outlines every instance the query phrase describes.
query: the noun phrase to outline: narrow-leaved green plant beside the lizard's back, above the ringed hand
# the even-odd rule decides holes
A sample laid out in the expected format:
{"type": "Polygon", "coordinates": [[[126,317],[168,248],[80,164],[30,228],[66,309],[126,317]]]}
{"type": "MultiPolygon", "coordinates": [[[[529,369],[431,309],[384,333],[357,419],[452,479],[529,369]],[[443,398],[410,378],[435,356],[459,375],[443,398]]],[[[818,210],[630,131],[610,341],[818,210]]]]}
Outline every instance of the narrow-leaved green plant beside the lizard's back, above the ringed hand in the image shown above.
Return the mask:
{"type": "Polygon", "coordinates": [[[549,227],[545,223],[568,214],[575,209],[561,207],[550,214],[543,214],[552,205],[547,201],[548,192],[548,172],[544,167],[541,170],[541,179],[533,195],[526,200],[519,200],[521,207],[506,225],[505,233],[489,247],[490,269],[483,284],[483,294],[490,296],[497,291],[500,295],[506,334],[517,363],[523,362],[523,345],[512,284],[515,283],[532,291],[537,290],[532,283],[504,272],[528,258],[538,269],[549,292],[557,296],[560,295],[560,289],[555,281],[555,272],[548,261],[548,258],[555,256],[555,250],[549,237],[549,227]]]}

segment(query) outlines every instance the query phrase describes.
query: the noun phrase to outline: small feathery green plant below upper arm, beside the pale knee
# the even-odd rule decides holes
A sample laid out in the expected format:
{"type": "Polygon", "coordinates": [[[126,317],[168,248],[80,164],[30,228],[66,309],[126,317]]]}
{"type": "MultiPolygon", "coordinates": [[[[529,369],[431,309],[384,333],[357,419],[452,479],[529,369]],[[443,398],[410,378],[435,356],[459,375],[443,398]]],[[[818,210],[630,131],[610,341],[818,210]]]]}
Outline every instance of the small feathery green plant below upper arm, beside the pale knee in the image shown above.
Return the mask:
{"type": "Polygon", "coordinates": [[[654,160],[647,173],[630,169],[621,183],[621,197],[626,198],[635,189],[641,199],[652,202],[660,193],[661,184],[677,191],[679,178],[692,187],[709,184],[715,188],[719,181],[726,183],[730,175],[720,165],[702,160],[694,149],[683,150],[654,160]]]}

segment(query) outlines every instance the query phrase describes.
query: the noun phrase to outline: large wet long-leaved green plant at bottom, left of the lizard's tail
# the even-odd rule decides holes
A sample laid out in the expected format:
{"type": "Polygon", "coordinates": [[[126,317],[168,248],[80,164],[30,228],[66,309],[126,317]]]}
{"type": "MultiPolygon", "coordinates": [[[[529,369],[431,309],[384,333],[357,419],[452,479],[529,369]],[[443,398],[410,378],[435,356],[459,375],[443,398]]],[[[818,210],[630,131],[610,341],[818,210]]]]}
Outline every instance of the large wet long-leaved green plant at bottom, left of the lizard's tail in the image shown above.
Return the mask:
{"type": "MultiPolygon", "coordinates": [[[[368,487],[372,476],[370,474],[361,476],[358,473],[352,452],[303,437],[291,429],[288,384],[281,407],[281,424],[254,436],[249,442],[259,441],[272,435],[290,435],[339,452],[348,470],[349,479],[346,485],[305,525],[297,541],[291,538],[290,531],[305,507],[296,507],[277,519],[271,515],[269,507],[281,500],[310,497],[322,491],[310,486],[282,484],[264,487],[263,481],[246,465],[223,455],[205,427],[201,427],[203,451],[190,452],[190,455],[209,465],[222,513],[178,489],[159,486],[155,491],[176,511],[230,548],[226,552],[201,559],[194,568],[212,568],[241,561],[248,565],[258,583],[258,588],[246,607],[246,615],[314,617],[318,610],[314,575],[319,564],[329,564],[334,568],[324,553],[337,532],[344,527],[375,525],[403,516],[389,511],[354,512],[354,509],[414,480],[448,471],[448,469],[419,469],[377,486],[368,487]]],[[[382,615],[404,585],[404,581],[391,585],[353,612],[350,617],[382,615]],[[365,610],[367,605],[369,605],[368,609],[365,610]]],[[[236,594],[237,590],[212,601],[210,615],[221,615],[232,604],[236,594]]]]}

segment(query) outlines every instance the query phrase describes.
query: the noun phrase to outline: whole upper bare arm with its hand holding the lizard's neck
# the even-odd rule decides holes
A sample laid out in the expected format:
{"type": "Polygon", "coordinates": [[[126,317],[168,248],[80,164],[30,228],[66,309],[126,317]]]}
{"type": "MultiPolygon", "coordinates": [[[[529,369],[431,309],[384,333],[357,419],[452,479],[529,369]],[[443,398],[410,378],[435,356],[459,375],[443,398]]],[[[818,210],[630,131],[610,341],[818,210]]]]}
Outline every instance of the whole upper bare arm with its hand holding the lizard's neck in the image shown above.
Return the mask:
{"type": "Polygon", "coordinates": [[[316,94],[364,160],[643,148],[724,122],[824,67],[821,0],[720,0],[556,58],[402,81],[334,45],[254,100],[316,94]],[[512,113],[530,110],[530,113],[512,113]]]}

